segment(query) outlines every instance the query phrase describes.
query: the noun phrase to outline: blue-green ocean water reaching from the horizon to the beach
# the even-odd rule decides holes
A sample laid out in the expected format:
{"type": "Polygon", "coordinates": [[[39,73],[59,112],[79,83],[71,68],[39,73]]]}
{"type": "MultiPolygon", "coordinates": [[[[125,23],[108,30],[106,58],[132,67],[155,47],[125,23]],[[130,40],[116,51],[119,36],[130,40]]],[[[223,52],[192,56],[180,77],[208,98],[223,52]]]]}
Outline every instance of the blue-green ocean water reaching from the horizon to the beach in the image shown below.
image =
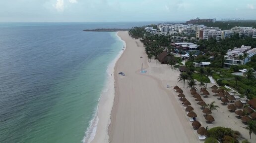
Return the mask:
{"type": "Polygon", "coordinates": [[[0,23],[0,143],[81,143],[107,68],[144,23],[0,23]]]}

